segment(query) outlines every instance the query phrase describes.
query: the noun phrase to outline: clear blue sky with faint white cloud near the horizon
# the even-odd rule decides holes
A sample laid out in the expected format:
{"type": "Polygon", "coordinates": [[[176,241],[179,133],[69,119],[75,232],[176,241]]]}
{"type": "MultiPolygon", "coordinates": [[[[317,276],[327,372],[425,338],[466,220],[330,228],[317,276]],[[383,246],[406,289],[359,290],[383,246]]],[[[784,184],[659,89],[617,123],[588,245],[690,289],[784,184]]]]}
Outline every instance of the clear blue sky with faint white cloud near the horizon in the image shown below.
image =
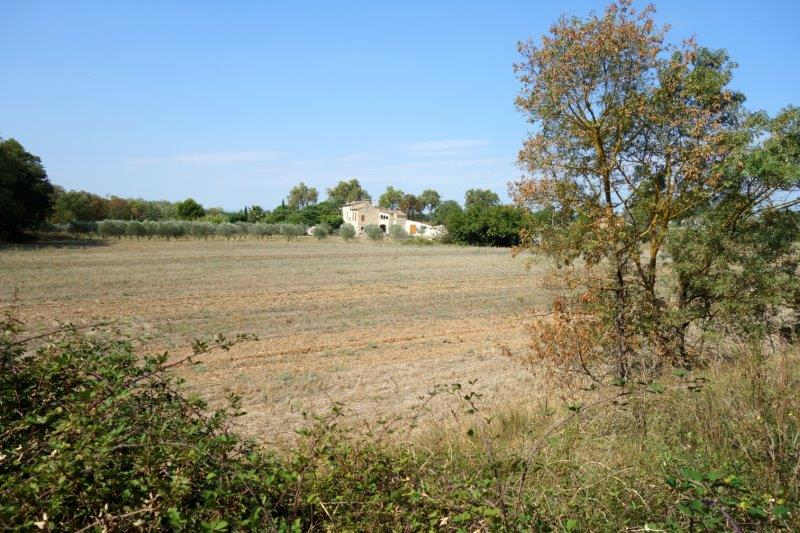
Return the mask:
{"type": "MultiPolygon", "coordinates": [[[[640,6],[642,4],[639,4],[640,6]]],[[[605,2],[44,2],[0,9],[0,136],[52,182],[271,208],[358,178],[505,197],[528,125],[516,43],[605,2]]],[[[752,109],[800,105],[798,0],[656,3],[740,64],[752,109]]]]}

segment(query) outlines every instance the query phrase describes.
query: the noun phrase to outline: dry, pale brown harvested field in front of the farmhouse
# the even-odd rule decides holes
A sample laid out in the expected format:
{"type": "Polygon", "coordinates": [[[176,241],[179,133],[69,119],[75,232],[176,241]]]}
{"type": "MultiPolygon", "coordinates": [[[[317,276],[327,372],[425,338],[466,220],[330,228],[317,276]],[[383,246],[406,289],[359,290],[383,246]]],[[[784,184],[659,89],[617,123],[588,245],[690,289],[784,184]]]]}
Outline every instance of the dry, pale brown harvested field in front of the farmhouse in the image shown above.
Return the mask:
{"type": "Polygon", "coordinates": [[[212,403],[241,395],[242,428],[269,443],[331,402],[374,425],[451,416],[438,398],[419,408],[437,384],[477,379],[488,402],[533,394],[534,377],[500,349],[524,349],[525,317],[548,300],[529,262],[507,249],[305,238],[6,248],[0,305],[30,331],[112,321],[176,356],[194,338],[257,335],[181,372],[212,403]]]}

